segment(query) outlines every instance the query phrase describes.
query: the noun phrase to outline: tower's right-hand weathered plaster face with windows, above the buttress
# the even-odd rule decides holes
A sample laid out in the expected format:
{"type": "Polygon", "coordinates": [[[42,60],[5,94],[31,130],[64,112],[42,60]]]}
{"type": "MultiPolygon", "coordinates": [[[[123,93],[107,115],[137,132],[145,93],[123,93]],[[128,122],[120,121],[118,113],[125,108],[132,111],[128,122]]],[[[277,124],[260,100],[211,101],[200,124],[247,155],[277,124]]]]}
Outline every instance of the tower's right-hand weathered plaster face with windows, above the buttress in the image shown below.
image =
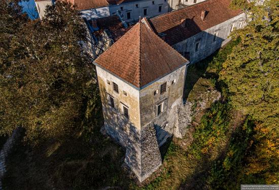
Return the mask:
{"type": "Polygon", "coordinates": [[[155,81],[140,91],[141,127],[153,122],[159,146],[173,134],[177,106],[183,104],[183,88],[186,65],[155,81]],[[175,81],[172,84],[172,81],[175,81]],[[160,94],[160,87],[167,83],[166,92],[160,94]],[[154,92],[158,93],[154,95],[154,92]],[[157,116],[158,105],[163,103],[163,110],[157,116]]]}

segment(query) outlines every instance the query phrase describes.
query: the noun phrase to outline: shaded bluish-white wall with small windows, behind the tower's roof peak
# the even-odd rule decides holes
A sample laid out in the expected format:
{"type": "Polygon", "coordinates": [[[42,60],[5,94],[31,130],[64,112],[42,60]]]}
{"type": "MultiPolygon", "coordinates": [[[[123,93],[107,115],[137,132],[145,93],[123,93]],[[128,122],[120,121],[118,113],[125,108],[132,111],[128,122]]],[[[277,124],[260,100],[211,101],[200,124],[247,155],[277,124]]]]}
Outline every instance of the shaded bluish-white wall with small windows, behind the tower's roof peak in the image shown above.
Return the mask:
{"type": "Polygon", "coordinates": [[[110,6],[110,14],[115,15],[117,10],[123,14],[125,21],[137,21],[140,17],[152,18],[160,14],[168,12],[168,2],[165,0],[148,0],[148,1],[135,1],[131,3],[123,3],[120,5],[110,6]],[[154,2],[154,5],[153,3],[154,2]],[[138,8],[136,8],[136,4],[138,8]],[[159,12],[159,6],[162,6],[162,11],[159,12]],[[121,11],[123,7],[123,11],[121,11]],[[147,15],[144,16],[144,9],[147,9],[147,15]],[[131,18],[127,19],[127,12],[131,13],[131,18]]]}

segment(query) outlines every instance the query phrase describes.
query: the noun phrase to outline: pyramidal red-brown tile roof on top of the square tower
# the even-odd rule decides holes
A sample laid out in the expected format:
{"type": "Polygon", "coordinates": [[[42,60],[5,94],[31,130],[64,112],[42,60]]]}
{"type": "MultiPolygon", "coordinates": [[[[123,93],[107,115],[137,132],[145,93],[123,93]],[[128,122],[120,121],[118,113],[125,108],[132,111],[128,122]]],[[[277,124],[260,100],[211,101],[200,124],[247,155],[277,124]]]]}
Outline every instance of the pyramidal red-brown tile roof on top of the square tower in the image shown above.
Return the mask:
{"type": "Polygon", "coordinates": [[[145,24],[138,22],[95,64],[141,88],[188,62],[145,24]]]}

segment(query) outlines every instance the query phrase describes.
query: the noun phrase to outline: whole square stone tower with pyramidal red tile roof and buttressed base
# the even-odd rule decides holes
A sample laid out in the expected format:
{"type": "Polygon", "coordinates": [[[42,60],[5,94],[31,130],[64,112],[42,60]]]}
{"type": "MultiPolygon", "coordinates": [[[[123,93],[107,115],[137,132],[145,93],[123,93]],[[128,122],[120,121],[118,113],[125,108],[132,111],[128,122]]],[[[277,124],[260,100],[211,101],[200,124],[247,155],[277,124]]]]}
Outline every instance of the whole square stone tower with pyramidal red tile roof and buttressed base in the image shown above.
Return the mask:
{"type": "Polygon", "coordinates": [[[126,148],[125,163],[145,180],[173,134],[189,61],[141,22],[95,61],[104,129],[126,148]]]}

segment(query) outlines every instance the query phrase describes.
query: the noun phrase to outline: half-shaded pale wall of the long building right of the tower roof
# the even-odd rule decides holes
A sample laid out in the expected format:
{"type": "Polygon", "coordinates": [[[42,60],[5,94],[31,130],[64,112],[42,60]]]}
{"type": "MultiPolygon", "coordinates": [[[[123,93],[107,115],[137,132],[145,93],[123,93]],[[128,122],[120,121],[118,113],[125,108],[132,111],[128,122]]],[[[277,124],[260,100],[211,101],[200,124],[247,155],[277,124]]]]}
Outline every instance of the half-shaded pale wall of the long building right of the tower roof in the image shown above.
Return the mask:
{"type": "Polygon", "coordinates": [[[245,26],[245,13],[241,13],[221,24],[201,31],[173,46],[178,52],[190,53],[190,62],[196,63],[213,54],[216,50],[230,41],[228,38],[231,26],[239,28],[245,26]],[[216,34],[216,41],[214,35],[216,34]],[[196,44],[199,43],[198,51],[195,51],[196,44]]]}

